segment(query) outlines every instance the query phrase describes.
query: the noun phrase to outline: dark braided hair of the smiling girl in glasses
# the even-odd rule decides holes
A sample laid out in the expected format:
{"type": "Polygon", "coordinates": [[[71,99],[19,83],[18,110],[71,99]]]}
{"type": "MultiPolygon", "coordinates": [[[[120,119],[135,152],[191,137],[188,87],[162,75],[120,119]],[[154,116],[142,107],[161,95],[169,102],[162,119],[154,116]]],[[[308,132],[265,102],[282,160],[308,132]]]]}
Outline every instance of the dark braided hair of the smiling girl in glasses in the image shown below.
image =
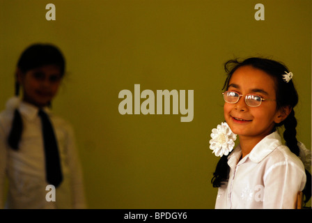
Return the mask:
{"type": "MultiPolygon", "coordinates": [[[[230,60],[224,64],[224,70],[227,73],[227,77],[222,90],[228,89],[228,84],[233,73],[235,70],[237,70],[237,68],[242,66],[252,66],[253,68],[263,70],[274,78],[276,84],[276,109],[283,109],[283,107],[292,108],[290,114],[284,121],[281,123],[276,123],[274,130],[280,126],[284,127],[285,130],[283,132],[283,139],[286,141],[286,146],[290,148],[292,153],[295,153],[295,155],[299,156],[299,146],[296,138],[297,120],[295,118],[295,111],[293,109],[298,103],[298,94],[292,80],[287,83],[282,79],[282,75],[284,75],[285,72],[289,72],[288,68],[283,65],[283,63],[258,57],[251,57],[249,59],[245,59],[244,61],[238,61],[237,59],[230,60]]],[[[213,187],[220,187],[228,180],[228,174],[230,171],[227,164],[228,155],[222,156],[217,163],[217,167],[211,180],[213,187]]],[[[306,186],[304,187],[303,194],[305,197],[304,202],[306,203],[311,198],[311,174],[308,170],[305,171],[306,186]]]]}

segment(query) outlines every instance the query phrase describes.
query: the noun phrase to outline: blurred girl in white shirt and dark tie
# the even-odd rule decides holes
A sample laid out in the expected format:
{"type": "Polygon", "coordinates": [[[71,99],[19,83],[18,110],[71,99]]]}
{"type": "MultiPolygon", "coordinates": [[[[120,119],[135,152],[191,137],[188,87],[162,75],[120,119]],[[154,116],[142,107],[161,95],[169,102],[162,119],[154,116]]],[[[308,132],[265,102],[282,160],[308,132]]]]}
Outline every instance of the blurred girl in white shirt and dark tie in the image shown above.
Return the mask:
{"type": "Polygon", "coordinates": [[[65,59],[54,45],[31,45],[20,56],[15,97],[0,114],[1,208],[86,208],[72,128],[49,107],[64,73],[65,59]],[[52,123],[47,134],[45,123],[52,123]],[[46,148],[53,140],[44,135],[55,136],[54,151],[46,148]],[[6,177],[8,194],[3,196],[6,177]]]}

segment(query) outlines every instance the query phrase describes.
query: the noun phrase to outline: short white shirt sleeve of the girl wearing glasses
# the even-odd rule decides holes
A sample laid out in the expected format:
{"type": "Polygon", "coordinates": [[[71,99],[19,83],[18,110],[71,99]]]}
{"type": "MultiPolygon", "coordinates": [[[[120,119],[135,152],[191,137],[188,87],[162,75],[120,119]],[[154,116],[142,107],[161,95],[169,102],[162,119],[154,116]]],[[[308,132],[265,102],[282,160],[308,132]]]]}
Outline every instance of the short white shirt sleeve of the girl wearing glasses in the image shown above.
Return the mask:
{"type": "Polygon", "coordinates": [[[264,176],[263,208],[295,208],[297,192],[303,190],[306,174],[294,162],[278,162],[267,169],[264,176]]]}

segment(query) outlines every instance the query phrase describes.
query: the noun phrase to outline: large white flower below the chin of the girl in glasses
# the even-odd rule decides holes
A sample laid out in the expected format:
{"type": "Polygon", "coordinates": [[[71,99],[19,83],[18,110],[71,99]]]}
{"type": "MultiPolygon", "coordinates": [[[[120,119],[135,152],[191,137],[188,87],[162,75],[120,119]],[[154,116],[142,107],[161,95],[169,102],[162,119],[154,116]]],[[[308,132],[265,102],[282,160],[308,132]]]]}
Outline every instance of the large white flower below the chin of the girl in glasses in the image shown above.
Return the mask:
{"type": "Polygon", "coordinates": [[[228,123],[224,122],[217,125],[217,128],[212,129],[210,134],[210,149],[214,155],[221,157],[228,155],[235,146],[236,134],[234,134],[228,123]]]}

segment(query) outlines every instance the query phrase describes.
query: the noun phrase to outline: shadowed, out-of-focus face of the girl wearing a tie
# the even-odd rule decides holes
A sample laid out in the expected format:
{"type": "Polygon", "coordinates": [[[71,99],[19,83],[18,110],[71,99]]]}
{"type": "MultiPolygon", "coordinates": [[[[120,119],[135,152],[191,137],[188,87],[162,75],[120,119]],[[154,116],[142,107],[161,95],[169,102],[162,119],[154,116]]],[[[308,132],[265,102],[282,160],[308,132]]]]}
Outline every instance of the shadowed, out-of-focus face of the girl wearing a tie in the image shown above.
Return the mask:
{"type": "Polygon", "coordinates": [[[42,66],[26,73],[18,72],[23,100],[37,107],[49,105],[59,89],[61,79],[61,70],[54,65],[42,66]]]}

